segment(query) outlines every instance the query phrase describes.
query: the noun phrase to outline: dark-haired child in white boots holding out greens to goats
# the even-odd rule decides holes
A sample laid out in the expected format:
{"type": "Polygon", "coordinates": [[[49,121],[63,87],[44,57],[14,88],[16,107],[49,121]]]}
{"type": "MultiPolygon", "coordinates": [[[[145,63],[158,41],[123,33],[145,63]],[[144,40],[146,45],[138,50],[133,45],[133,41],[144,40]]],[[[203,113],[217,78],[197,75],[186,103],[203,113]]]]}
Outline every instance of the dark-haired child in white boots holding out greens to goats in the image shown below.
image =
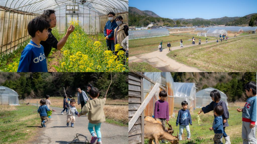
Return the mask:
{"type": "MultiPolygon", "coordinates": [[[[207,113],[207,112],[210,112],[212,110],[214,110],[214,108],[216,106],[222,106],[223,107],[223,114],[222,114],[222,119],[223,119],[223,135],[220,137],[221,141],[222,141],[222,137],[224,137],[224,139],[226,140],[226,144],[231,144],[230,142],[230,137],[227,136],[226,132],[225,132],[225,128],[228,125],[228,121],[227,119],[229,118],[229,112],[228,112],[228,109],[227,109],[227,105],[224,101],[221,100],[221,95],[219,93],[219,91],[217,90],[213,90],[210,92],[210,97],[212,98],[212,102],[205,106],[205,107],[202,107],[202,109],[198,112],[198,114],[200,114],[201,112],[204,112],[207,113]]],[[[217,116],[214,115],[214,118],[216,118],[217,116]]]]}

